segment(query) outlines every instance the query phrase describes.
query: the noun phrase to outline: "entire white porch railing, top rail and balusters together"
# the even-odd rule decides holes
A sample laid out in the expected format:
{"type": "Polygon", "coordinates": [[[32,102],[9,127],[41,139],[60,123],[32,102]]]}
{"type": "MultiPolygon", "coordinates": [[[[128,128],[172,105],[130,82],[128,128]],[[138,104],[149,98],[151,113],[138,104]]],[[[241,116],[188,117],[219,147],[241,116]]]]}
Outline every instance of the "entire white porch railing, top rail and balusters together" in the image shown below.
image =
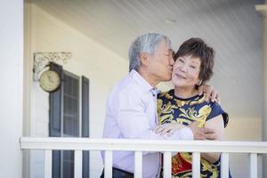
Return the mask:
{"type": "Polygon", "coordinates": [[[52,177],[52,150],[75,150],[75,178],[82,178],[82,150],[106,150],[105,178],[112,177],[112,151],[135,151],[134,177],[142,178],[142,151],[164,153],[164,177],[171,177],[171,152],[192,152],[193,178],[200,177],[200,152],[222,152],[221,177],[228,178],[229,153],[250,155],[250,177],[257,177],[257,154],[267,153],[267,142],[151,141],[22,137],[22,150],[44,150],[44,178],[52,177]]]}

